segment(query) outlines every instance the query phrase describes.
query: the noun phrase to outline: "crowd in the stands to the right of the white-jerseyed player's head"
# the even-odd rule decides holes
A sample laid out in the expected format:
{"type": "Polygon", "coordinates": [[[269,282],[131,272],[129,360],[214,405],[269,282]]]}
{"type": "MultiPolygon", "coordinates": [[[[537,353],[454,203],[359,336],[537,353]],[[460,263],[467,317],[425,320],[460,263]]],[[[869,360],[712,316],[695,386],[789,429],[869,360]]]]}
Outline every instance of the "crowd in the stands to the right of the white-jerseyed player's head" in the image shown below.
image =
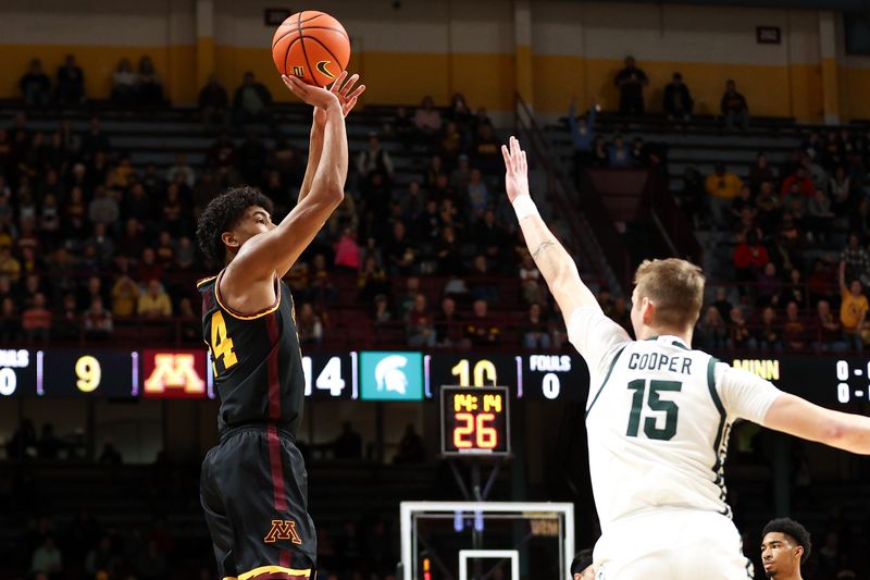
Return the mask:
{"type": "Polygon", "coordinates": [[[870,135],[844,128],[808,133],[779,166],[759,152],[745,180],[724,163],[686,180],[684,210],[734,248],[732,285],[703,313],[699,344],[863,349],[869,163],[870,135]]]}

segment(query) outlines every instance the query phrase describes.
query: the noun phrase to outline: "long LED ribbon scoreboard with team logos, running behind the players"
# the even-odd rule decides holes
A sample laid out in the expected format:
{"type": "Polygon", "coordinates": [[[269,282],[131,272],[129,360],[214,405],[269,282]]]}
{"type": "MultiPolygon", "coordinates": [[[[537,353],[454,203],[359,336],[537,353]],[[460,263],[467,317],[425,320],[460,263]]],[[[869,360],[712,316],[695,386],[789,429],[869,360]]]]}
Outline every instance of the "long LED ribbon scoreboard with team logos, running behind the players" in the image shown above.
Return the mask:
{"type": "MultiPolygon", "coordinates": [[[[828,408],[867,414],[870,357],[728,359],[828,408]]],[[[589,371],[572,354],[311,351],[302,356],[304,395],[320,400],[439,402],[442,385],[500,386],[511,399],[585,403],[589,371]]],[[[220,381],[208,350],[160,348],[0,348],[4,397],[213,399],[220,381]]]]}

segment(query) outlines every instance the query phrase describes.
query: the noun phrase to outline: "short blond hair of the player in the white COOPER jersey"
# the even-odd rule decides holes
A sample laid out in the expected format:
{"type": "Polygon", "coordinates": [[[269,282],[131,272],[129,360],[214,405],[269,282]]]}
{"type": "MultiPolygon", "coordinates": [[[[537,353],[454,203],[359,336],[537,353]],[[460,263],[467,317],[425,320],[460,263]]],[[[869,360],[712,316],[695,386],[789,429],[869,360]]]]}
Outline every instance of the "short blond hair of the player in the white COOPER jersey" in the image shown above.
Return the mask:
{"type": "Polygon", "coordinates": [[[656,306],[655,324],[673,329],[694,326],[704,304],[704,273],[686,260],[644,260],[634,274],[637,297],[656,306]]]}

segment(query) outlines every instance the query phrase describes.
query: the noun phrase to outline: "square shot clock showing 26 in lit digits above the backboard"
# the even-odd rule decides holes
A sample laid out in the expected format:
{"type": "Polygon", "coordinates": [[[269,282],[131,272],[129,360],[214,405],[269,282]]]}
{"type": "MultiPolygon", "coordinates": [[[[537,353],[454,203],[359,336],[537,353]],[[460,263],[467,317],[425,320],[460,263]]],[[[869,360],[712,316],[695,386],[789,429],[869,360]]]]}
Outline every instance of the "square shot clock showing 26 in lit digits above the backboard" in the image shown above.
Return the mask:
{"type": "Polygon", "coordinates": [[[506,386],[442,386],[442,454],[510,455],[509,400],[506,386]]]}

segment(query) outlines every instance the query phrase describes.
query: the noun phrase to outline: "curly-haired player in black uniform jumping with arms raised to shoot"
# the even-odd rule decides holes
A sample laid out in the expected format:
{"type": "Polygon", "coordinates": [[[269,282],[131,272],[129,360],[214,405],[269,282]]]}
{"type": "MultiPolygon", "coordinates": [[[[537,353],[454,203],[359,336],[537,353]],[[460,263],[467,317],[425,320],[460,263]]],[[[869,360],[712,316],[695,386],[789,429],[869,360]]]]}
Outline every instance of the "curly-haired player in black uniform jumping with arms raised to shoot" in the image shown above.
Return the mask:
{"type": "Polygon", "coordinates": [[[304,375],[293,298],[282,277],[344,199],[345,116],[365,89],[347,73],[331,89],[283,77],[314,107],[299,200],[279,225],[250,187],[213,199],[197,238],[221,268],[199,282],[202,332],[221,397],[221,442],[202,462],[200,501],[224,580],[311,578],[316,535],[296,446],[304,375]]]}

